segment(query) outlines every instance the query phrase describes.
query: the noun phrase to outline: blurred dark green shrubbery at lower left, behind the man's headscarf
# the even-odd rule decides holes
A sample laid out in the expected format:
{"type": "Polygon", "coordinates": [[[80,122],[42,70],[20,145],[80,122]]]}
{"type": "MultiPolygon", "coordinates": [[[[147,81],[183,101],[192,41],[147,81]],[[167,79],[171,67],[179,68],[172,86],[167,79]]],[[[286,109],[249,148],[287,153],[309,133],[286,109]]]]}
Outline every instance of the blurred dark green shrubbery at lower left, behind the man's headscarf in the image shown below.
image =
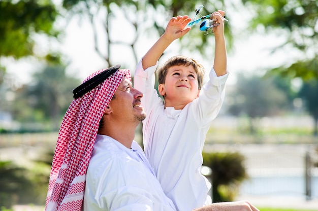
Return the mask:
{"type": "Polygon", "coordinates": [[[0,210],[14,204],[45,204],[53,152],[39,153],[28,168],[11,161],[0,161],[0,210]]]}

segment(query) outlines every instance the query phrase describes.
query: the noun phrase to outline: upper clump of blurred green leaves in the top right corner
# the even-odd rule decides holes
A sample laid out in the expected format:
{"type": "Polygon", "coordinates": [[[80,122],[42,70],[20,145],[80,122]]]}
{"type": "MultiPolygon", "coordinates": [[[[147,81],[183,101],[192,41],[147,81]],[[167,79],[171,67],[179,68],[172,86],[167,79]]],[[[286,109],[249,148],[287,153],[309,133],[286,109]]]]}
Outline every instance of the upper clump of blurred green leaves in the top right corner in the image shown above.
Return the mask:
{"type": "MultiPolygon", "coordinates": [[[[252,9],[256,18],[251,19],[251,26],[263,25],[267,30],[286,29],[290,33],[289,42],[299,49],[306,49],[309,39],[317,39],[314,30],[318,20],[317,1],[308,0],[242,0],[243,4],[252,9]],[[307,29],[309,31],[306,31],[307,29]],[[297,36],[296,36],[297,35],[297,36]],[[299,39],[301,36],[302,39],[299,39]]],[[[316,41],[312,40],[311,43],[316,41]]]]}

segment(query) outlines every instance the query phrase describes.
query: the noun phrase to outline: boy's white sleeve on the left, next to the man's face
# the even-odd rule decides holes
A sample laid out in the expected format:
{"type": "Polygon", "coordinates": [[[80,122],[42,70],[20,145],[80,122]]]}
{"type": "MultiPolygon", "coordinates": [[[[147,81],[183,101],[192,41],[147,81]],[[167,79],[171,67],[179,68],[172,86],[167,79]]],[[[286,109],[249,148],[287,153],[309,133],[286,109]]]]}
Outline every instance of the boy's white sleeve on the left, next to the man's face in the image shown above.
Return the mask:
{"type": "Polygon", "coordinates": [[[142,59],[138,62],[135,76],[134,76],[134,88],[138,89],[143,93],[143,97],[141,98],[141,104],[145,109],[145,112],[152,110],[156,105],[163,104],[163,100],[159,97],[155,85],[155,70],[158,66],[158,62],[156,65],[148,67],[147,69],[143,69],[142,67],[142,59]]]}

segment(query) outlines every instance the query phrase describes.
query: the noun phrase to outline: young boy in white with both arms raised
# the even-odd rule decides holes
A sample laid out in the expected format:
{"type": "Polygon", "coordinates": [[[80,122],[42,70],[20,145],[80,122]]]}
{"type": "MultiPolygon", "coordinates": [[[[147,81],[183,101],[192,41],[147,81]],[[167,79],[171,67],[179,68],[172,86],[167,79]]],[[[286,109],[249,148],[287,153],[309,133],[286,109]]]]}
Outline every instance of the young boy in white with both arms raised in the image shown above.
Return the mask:
{"type": "Polygon", "coordinates": [[[188,16],[170,19],[165,33],[144,55],[135,72],[134,86],[144,94],[141,102],[147,113],[143,121],[145,154],[178,210],[211,203],[211,184],[200,168],[206,133],[221,108],[228,77],[224,14],[217,11],[211,15],[219,25],[213,28],[214,65],[204,86],[203,66],[194,59],[174,56],[157,73],[158,92],[164,101],[154,89],[157,61],[174,40],[190,30],[184,28],[191,20],[188,16]]]}

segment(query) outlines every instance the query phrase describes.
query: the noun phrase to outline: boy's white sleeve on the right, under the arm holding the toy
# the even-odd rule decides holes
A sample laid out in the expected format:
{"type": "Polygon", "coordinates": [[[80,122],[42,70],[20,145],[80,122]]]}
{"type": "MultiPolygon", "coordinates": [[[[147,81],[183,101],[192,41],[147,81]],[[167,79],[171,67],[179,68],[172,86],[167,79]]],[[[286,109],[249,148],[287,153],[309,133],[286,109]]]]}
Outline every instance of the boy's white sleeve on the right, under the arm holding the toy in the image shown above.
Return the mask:
{"type": "Polygon", "coordinates": [[[198,117],[202,126],[210,124],[218,115],[225,97],[225,84],[229,73],[224,76],[216,76],[212,67],[209,73],[209,81],[202,87],[197,101],[198,117]]]}

